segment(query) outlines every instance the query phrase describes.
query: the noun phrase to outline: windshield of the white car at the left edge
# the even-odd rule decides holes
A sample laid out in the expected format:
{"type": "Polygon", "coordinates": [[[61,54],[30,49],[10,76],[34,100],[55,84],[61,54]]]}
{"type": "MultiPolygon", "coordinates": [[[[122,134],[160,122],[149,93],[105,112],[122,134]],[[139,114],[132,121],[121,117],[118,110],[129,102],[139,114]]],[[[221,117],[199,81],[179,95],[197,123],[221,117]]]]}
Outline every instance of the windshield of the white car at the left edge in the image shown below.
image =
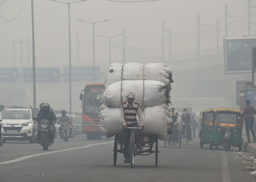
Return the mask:
{"type": "Polygon", "coordinates": [[[29,111],[7,110],[2,113],[3,119],[30,119],[29,111]]]}

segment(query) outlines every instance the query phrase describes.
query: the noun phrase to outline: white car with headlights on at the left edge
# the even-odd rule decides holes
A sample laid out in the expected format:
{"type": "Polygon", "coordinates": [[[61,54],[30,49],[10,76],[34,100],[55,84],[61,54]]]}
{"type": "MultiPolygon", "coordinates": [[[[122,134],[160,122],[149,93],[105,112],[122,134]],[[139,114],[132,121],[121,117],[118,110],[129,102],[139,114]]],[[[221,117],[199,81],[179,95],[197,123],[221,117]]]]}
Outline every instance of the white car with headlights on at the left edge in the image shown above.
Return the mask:
{"type": "Polygon", "coordinates": [[[2,112],[1,133],[3,142],[6,140],[28,139],[35,143],[37,139],[38,124],[34,122],[35,114],[28,108],[7,108],[2,112]]]}

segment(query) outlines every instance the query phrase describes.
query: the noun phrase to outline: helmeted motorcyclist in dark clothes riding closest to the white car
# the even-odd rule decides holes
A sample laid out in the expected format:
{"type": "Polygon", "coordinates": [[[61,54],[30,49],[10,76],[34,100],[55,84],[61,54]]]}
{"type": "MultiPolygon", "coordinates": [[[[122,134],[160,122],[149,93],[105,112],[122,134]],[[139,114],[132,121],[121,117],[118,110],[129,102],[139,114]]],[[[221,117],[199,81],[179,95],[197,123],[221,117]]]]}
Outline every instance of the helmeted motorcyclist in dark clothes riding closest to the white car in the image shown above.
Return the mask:
{"type": "MultiPolygon", "coordinates": [[[[40,121],[42,119],[47,119],[48,121],[56,122],[56,116],[55,116],[54,112],[50,111],[50,105],[48,103],[45,103],[45,104],[42,105],[42,108],[43,108],[43,111],[38,112],[38,115],[36,116],[36,121],[38,121],[39,124],[40,124],[40,121]]],[[[53,144],[54,143],[54,129],[53,129],[52,126],[50,128],[49,133],[50,133],[51,143],[53,144]]],[[[40,143],[40,129],[39,129],[39,127],[38,127],[37,139],[38,139],[38,143],[40,143]]]]}

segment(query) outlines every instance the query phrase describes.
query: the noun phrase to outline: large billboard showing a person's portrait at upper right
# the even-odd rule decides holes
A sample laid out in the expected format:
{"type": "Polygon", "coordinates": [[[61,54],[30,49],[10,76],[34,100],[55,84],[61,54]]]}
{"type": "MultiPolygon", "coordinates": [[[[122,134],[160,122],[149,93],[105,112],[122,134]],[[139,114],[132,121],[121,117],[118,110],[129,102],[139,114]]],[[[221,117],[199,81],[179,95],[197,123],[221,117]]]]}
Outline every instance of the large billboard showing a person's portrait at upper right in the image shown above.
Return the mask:
{"type": "Polygon", "coordinates": [[[225,38],[225,74],[251,73],[253,47],[256,47],[256,37],[225,38]]]}

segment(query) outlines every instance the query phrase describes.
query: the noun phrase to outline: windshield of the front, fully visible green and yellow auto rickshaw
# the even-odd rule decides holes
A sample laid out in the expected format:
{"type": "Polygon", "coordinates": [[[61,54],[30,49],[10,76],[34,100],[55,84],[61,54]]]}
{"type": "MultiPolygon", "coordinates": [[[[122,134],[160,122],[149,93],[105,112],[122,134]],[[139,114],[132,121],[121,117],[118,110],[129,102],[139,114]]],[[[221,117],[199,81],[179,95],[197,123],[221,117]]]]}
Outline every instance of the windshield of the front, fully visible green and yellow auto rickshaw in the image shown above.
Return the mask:
{"type": "Polygon", "coordinates": [[[239,124],[240,117],[237,112],[219,111],[216,115],[216,122],[239,124]]]}

